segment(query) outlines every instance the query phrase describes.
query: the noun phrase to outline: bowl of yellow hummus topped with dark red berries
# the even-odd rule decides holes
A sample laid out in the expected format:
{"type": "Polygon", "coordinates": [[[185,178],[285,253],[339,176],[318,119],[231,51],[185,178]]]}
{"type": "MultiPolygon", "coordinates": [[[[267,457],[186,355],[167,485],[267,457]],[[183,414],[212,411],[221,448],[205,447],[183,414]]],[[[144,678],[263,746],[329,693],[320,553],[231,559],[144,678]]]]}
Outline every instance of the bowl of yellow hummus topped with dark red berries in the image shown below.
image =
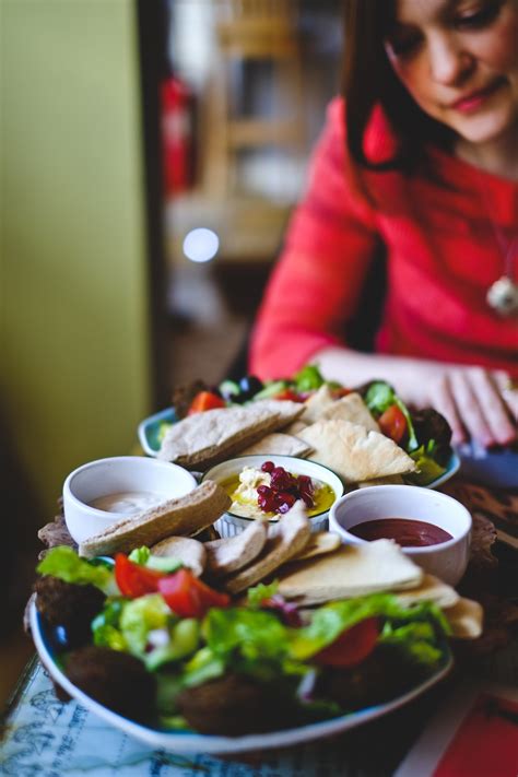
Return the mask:
{"type": "Polygon", "coordinates": [[[331,506],[343,494],[343,483],[332,470],[294,456],[238,456],[216,464],[202,480],[215,481],[232,499],[217,521],[222,537],[239,533],[250,520],[276,521],[298,498],[306,503],[311,529],[321,531],[331,506]]]}

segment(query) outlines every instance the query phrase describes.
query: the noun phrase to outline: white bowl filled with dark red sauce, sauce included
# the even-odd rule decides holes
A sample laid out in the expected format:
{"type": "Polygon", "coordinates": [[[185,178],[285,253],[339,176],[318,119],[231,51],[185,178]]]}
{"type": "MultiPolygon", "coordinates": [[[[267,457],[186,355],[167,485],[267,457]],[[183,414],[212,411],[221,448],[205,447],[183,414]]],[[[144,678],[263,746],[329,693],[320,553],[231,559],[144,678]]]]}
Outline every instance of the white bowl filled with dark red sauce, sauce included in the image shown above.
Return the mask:
{"type": "Polygon", "coordinates": [[[451,496],[414,485],[374,485],[352,491],[331,507],[329,529],[346,544],[381,538],[432,575],[455,586],[466,572],[471,515],[451,496]]]}

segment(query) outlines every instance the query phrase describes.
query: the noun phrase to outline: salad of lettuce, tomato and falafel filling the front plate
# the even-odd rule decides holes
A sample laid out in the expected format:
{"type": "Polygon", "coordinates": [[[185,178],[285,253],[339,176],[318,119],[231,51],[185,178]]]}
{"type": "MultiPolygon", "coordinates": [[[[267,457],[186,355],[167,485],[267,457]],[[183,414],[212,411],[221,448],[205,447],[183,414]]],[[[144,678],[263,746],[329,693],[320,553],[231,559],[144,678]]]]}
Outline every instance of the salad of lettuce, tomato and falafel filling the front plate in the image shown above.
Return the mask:
{"type": "Polygon", "coordinates": [[[386,591],[301,610],[275,581],[231,597],[148,548],[39,563],[37,608],[71,682],[166,730],[240,735],[392,699],[449,658],[431,601],[386,591]]]}

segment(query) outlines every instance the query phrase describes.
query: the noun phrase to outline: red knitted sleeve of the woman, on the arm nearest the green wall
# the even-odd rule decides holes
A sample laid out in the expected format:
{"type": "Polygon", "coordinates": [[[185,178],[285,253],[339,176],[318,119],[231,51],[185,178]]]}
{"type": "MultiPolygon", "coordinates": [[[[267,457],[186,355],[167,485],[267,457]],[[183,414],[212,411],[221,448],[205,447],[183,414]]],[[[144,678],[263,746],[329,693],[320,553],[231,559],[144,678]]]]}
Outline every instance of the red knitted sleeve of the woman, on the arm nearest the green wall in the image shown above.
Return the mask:
{"type": "Polygon", "coordinates": [[[375,214],[351,186],[342,116],[337,98],[252,330],[249,368],[262,379],[285,377],[320,349],[344,343],[378,245],[375,214]]]}

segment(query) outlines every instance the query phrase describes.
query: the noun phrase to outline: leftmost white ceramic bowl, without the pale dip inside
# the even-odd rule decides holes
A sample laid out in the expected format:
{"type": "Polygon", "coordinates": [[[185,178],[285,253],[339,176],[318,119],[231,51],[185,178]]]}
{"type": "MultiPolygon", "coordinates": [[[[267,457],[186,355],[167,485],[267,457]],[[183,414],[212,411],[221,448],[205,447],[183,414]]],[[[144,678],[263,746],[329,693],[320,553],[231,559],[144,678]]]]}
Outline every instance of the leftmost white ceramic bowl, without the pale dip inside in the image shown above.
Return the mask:
{"type": "MultiPolygon", "coordinates": [[[[144,456],[97,459],[71,472],[63,484],[67,528],[79,544],[133,511],[109,513],[90,503],[121,492],[156,494],[161,502],[185,496],[196,488],[195,476],[183,467],[144,456]]],[[[145,507],[143,507],[145,509],[145,507]]]]}

